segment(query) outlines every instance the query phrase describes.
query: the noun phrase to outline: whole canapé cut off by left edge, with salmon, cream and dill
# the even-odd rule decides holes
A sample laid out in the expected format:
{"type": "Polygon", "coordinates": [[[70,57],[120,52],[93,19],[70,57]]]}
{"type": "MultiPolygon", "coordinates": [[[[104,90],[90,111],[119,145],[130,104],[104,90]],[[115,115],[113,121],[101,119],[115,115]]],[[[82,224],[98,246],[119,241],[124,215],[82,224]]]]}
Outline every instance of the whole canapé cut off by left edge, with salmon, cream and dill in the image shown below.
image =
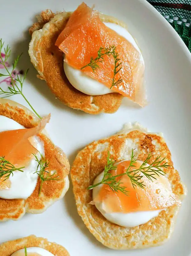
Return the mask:
{"type": "Polygon", "coordinates": [[[0,99],[0,120],[0,221],[41,213],[69,188],[68,159],[44,131],[50,115],[0,99]]]}

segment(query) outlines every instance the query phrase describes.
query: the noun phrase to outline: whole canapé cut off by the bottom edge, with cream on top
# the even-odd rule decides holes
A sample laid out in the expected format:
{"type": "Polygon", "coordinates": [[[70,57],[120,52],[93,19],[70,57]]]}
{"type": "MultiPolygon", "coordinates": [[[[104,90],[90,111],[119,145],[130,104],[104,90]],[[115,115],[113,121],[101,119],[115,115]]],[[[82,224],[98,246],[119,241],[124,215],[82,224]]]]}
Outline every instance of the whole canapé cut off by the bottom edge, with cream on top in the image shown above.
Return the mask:
{"type": "Polygon", "coordinates": [[[59,244],[51,243],[34,235],[0,244],[3,256],[69,256],[68,251],[59,244]]]}

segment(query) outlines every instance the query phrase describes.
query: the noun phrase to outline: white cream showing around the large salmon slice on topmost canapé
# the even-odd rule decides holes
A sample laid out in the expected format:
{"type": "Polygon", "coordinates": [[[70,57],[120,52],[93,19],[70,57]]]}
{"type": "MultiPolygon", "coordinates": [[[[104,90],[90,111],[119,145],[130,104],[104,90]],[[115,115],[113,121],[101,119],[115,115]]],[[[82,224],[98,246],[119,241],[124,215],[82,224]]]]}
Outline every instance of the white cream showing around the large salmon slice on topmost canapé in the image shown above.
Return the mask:
{"type": "MultiPolygon", "coordinates": [[[[126,40],[128,40],[131,44],[133,44],[133,46],[137,49],[137,51],[140,52],[140,49],[136,44],[136,41],[124,27],[121,27],[120,25],[115,23],[104,23],[104,24],[107,27],[114,30],[115,32],[117,32],[119,35],[125,37],[126,40]]],[[[140,52],[140,60],[144,63],[143,55],[141,54],[141,52],[140,52]]],[[[73,87],[75,87],[78,91],[81,91],[87,95],[104,95],[104,94],[113,92],[104,84],[98,82],[97,80],[95,80],[94,78],[91,78],[90,76],[87,76],[84,72],[69,66],[69,64],[65,61],[64,61],[64,72],[70,84],[72,84],[73,87]]]]}

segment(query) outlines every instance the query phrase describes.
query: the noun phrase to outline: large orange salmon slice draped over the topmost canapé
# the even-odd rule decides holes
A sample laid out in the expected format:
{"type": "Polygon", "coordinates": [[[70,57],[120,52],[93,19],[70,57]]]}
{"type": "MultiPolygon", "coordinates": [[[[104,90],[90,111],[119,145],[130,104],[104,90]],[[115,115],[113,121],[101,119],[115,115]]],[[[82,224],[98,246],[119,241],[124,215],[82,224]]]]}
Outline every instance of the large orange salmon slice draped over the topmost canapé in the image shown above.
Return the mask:
{"type": "MultiPolygon", "coordinates": [[[[81,69],[92,57],[97,57],[101,47],[109,48],[114,45],[122,62],[115,79],[121,77],[122,82],[111,89],[144,105],[144,97],[139,93],[143,84],[144,63],[140,61],[140,53],[136,48],[101,22],[99,13],[92,11],[84,3],[72,13],[67,24],[56,41],[56,45],[65,53],[65,61],[70,66],[81,69]]],[[[100,68],[95,72],[90,67],[81,71],[110,88],[114,77],[113,56],[104,55],[103,61],[98,64],[100,68]]]]}

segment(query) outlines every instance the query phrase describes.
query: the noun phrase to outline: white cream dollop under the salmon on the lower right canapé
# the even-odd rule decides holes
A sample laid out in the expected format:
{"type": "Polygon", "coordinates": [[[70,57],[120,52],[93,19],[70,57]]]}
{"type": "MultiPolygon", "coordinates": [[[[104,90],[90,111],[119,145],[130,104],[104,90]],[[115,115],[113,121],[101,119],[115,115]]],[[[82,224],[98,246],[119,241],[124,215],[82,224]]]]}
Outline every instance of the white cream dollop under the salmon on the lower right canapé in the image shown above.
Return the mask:
{"type": "MultiPolygon", "coordinates": [[[[103,179],[103,176],[104,176],[104,172],[101,172],[94,180],[94,184],[101,182],[101,180],[103,179]]],[[[102,186],[103,185],[99,185],[93,188],[93,200],[99,194],[102,186]]],[[[131,212],[131,213],[121,213],[121,212],[107,213],[104,210],[103,202],[95,202],[95,206],[97,210],[100,211],[101,214],[110,222],[115,223],[119,226],[129,227],[129,228],[147,223],[150,219],[158,216],[159,212],[161,212],[161,210],[156,210],[156,211],[131,212]]]]}

